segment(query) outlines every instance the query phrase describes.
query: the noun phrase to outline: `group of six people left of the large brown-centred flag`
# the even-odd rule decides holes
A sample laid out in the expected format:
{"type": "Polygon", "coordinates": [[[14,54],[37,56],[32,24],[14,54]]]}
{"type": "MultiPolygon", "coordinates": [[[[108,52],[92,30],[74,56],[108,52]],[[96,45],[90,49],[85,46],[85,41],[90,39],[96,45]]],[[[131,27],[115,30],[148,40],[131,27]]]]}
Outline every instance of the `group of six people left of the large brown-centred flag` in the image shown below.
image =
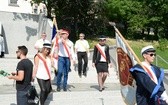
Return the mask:
{"type": "MultiPolygon", "coordinates": [[[[46,33],[42,33],[41,38],[34,45],[37,50],[34,63],[26,57],[27,47],[18,46],[16,54],[17,58],[21,60],[17,65],[16,72],[8,76],[9,79],[16,80],[17,105],[27,105],[26,92],[30,89],[31,82],[35,78],[40,87],[40,105],[44,105],[49,93],[53,90],[51,86],[52,68],[56,72],[57,92],[60,92],[61,89],[67,91],[68,74],[71,71],[71,64],[77,63],[76,59],[79,77],[82,78],[82,75],[87,77],[88,57],[90,56],[89,43],[84,39],[84,33],[79,34],[79,40],[75,44],[69,40],[69,34],[69,30],[60,29],[51,42],[46,39],[46,33]]],[[[104,90],[108,64],[111,67],[109,46],[105,42],[105,36],[101,36],[96,45],[98,47],[94,48],[93,56],[93,67],[96,67],[98,73],[99,91],[104,90]]]]}

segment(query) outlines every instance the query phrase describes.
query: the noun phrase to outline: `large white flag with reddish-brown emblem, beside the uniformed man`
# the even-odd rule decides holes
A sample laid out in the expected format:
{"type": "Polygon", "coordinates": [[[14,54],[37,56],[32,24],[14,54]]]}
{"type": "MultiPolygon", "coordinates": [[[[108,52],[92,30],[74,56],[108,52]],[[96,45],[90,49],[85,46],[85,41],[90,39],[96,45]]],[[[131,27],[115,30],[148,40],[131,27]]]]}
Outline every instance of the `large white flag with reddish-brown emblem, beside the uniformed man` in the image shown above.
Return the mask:
{"type": "Polygon", "coordinates": [[[121,94],[127,105],[135,105],[136,103],[136,85],[129,69],[137,64],[132,51],[125,44],[123,37],[116,34],[117,45],[117,69],[119,73],[121,94]]]}

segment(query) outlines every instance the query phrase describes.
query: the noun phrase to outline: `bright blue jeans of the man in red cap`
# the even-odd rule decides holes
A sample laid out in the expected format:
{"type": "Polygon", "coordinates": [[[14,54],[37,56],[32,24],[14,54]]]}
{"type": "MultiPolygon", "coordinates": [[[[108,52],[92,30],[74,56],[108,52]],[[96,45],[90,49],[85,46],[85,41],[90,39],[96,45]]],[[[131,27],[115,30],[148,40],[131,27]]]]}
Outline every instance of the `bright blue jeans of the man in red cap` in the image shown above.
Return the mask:
{"type": "Polygon", "coordinates": [[[57,86],[60,87],[63,76],[63,88],[67,87],[68,72],[70,70],[70,60],[68,57],[58,57],[57,86]]]}

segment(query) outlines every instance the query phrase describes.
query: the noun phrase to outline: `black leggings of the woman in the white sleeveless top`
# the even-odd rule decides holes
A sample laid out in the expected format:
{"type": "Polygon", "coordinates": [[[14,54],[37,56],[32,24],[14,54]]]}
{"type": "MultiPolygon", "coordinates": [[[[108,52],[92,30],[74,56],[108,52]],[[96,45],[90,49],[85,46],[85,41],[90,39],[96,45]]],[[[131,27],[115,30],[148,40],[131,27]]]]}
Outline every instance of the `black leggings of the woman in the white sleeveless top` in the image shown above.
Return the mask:
{"type": "Polygon", "coordinates": [[[44,105],[45,100],[48,97],[48,94],[51,91],[51,81],[50,80],[43,80],[43,79],[37,79],[38,84],[40,86],[41,92],[40,92],[40,105],[44,105]]]}

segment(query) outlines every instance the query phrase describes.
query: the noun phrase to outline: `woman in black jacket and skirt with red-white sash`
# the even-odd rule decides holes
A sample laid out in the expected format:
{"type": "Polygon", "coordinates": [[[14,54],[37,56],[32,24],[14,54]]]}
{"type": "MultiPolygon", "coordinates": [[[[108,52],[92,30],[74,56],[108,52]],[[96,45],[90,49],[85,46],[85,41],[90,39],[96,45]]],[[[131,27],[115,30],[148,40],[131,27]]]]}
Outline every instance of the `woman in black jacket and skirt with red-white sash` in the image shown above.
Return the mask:
{"type": "Polygon", "coordinates": [[[99,43],[95,45],[93,51],[92,66],[96,67],[99,91],[105,89],[104,83],[109,74],[108,67],[112,67],[109,54],[109,46],[105,44],[106,37],[104,35],[99,37],[99,43]]]}

